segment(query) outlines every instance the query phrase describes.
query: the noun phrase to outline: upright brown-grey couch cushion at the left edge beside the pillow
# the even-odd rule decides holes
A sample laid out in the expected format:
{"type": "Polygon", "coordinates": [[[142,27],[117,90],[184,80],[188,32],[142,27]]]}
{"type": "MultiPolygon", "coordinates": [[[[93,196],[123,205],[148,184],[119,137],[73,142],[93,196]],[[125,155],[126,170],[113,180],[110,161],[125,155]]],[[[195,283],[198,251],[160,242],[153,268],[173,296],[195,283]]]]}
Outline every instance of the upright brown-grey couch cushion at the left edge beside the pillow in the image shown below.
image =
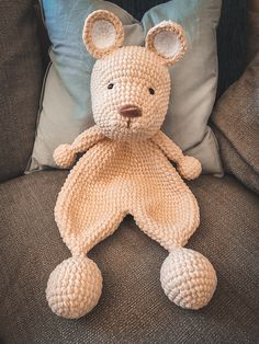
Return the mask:
{"type": "Polygon", "coordinates": [[[0,1],[0,181],[22,174],[34,142],[42,59],[32,0],[0,1]]]}

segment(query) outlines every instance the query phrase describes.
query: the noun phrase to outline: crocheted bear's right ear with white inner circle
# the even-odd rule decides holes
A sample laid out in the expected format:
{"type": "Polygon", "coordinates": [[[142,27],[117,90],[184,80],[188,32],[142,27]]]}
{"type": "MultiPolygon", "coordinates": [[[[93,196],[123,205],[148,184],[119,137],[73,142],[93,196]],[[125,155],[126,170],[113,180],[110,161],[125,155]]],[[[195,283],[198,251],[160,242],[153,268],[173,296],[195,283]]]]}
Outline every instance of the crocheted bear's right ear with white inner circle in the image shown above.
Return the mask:
{"type": "Polygon", "coordinates": [[[187,38],[182,26],[165,21],[151,27],[146,36],[146,48],[160,56],[164,65],[176,64],[187,50],[187,38]]]}

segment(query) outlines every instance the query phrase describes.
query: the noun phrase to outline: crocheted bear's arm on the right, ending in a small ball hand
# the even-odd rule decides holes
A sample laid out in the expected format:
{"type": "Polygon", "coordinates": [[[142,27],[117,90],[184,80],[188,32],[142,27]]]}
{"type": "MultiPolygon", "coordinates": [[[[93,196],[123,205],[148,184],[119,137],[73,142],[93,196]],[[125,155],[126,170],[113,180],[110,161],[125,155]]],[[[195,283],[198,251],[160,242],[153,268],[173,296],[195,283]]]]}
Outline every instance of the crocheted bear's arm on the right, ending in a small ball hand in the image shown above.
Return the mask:
{"type": "Polygon", "coordinates": [[[200,161],[193,157],[184,156],[182,150],[161,130],[151,140],[169,160],[177,163],[177,170],[182,177],[193,180],[201,174],[202,165],[200,161]]]}

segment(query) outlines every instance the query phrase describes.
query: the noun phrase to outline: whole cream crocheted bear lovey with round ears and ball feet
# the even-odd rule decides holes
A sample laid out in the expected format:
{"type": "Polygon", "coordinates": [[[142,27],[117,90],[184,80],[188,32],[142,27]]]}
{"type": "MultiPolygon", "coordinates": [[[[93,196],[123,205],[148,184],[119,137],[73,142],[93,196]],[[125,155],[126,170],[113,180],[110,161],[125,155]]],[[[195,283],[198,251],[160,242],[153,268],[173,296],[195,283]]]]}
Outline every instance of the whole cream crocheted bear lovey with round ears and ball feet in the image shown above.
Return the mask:
{"type": "Polygon", "coordinates": [[[54,152],[61,168],[71,167],[77,153],[86,153],[69,173],[55,207],[72,256],[49,276],[49,307],[65,318],[92,310],[101,296],[102,276],[87,254],[131,214],[147,236],[169,251],[160,271],[168,298],[199,309],[212,298],[216,274],[207,259],[183,248],[200,216],[196,199],[180,175],[198,177],[201,164],[183,156],[160,130],[170,95],[168,66],[187,49],[183,30],[161,22],[149,30],[145,47],[123,47],[121,21],[108,11],[95,11],[86,20],[82,38],[97,58],[91,76],[95,125],[54,152]]]}

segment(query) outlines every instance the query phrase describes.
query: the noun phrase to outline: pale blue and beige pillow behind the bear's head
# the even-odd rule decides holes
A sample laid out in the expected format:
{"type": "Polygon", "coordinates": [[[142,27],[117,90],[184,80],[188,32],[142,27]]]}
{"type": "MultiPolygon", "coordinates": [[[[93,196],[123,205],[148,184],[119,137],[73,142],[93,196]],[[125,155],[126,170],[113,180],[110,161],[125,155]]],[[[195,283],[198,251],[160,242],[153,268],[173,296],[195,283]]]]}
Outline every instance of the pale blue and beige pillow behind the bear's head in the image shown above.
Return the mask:
{"type": "Polygon", "coordinates": [[[29,171],[55,167],[54,149],[71,142],[93,125],[90,77],[94,59],[86,50],[81,33],[88,14],[103,9],[121,19],[124,45],[144,45],[148,30],[164,20],[183,26],[189,49],[170,69],[172,92],[164,131],[187,153],[196,157],[205,173],[222,173],[217,142],[207,126],[217,85],[215,28],[221,1],[168,1],[147,11],[142,22],[116,4],[102,0],[42,0],[41,5],[52,42],[52,66],[43,89],[29,171]]]}

